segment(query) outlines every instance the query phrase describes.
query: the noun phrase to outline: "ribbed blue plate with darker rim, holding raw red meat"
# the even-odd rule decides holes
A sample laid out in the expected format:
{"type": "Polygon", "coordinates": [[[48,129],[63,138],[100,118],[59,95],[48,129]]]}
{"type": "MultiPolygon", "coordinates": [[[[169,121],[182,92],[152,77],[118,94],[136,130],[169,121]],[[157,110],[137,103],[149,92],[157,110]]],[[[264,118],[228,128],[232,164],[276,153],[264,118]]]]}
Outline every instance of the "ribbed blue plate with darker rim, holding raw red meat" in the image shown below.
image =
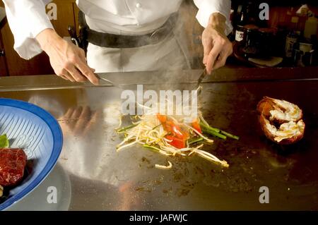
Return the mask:
{"type": "Polygon", "coordinates": [[[0,98],[0,134],[4,133],[10,147],[23,148],[32,168],[22,183],[10,190],[0,210],[21,200],[45,179],[63,145],[61,127],[47,111],[28,102],[0,98]]]}

